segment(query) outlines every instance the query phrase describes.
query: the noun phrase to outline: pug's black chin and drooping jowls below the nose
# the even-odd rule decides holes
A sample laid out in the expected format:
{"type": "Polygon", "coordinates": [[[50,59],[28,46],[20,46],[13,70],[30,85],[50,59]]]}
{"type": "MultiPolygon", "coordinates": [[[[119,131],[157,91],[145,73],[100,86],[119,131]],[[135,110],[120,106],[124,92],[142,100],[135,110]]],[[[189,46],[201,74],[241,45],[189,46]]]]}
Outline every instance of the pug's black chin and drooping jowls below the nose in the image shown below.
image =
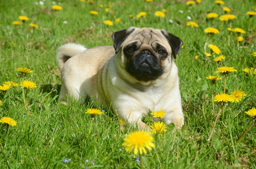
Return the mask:
{"type": "Polygon", "coordinates": [[[141,63],[140,65],[131,64],[128,68],[128,72],[136,78],[138,81],[154,81],[161,74],[162,70],[159,66],[150,65],[148,63],[141,63]]]}

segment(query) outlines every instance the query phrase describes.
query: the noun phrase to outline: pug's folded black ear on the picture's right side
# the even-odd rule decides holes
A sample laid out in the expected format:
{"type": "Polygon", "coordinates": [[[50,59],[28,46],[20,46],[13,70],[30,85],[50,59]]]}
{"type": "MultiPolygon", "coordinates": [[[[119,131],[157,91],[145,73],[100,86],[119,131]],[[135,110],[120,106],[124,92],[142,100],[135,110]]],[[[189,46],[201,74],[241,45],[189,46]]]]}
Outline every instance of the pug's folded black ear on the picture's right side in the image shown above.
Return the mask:
{"type": "Polygon", "coordinates": [[[166,30],[161,29],[162,34],[167,38],[168,42],[170,43],[172,47],[172,55],[174,59],[176,59],[176,55],[179,53],[181,46],[183,45],[183,42],[180,38],[176,37],[175,35],[168,33],[166,30]]]}

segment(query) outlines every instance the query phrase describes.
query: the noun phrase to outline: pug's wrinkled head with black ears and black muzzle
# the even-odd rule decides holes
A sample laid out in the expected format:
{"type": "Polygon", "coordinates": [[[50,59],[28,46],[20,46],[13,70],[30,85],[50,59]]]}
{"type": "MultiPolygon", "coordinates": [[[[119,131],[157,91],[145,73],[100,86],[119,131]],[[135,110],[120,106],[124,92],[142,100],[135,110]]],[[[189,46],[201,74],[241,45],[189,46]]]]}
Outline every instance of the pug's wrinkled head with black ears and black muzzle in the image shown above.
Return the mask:
{"type": "Polygon", "coordinates": [[[171,69],[182,41],[166,30],[128,28],[112,35],[120,64],[138,81],[153,81],[171,69]]]}

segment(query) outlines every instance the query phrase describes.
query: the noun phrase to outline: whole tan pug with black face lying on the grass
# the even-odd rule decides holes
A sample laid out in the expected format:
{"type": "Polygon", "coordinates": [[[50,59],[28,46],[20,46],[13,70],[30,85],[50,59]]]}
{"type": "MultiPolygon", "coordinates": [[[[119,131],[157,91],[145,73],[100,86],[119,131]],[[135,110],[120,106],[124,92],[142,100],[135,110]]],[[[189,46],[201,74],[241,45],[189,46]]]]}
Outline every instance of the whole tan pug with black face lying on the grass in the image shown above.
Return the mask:
{"type": "MultiPolygon", "coordinates": [[[[184,124],[176,59],[183,42],[164,29],[135,28],[112,34],[113,45],[86,50],[68,43],[58,49],[59,100],[88,98],[111,105],[119,118],[141,130],[149,110],[163,110],[163,122],[184,124]]],[[[157,119],[155,119],[157,121],[157,119]]]]}

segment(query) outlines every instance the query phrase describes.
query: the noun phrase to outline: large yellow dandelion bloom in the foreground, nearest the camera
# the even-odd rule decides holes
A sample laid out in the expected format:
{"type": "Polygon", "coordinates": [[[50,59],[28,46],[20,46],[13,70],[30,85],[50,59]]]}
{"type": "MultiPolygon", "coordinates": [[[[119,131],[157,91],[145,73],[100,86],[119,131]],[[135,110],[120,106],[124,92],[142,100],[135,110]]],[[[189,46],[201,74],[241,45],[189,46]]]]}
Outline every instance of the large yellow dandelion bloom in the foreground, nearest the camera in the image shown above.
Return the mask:
{"type": "Polygon", "coordinates": [[[132,152],[134,149],[134,154],[145,153],[146,149],[152,150],[155,147],[154,138],[150,136],[150,132],[147,131],[134,131],[131,134],[126,135],[124,138],[124,143],[122,144],[125,146],[125,151],[128,153],[132,152]]]}

